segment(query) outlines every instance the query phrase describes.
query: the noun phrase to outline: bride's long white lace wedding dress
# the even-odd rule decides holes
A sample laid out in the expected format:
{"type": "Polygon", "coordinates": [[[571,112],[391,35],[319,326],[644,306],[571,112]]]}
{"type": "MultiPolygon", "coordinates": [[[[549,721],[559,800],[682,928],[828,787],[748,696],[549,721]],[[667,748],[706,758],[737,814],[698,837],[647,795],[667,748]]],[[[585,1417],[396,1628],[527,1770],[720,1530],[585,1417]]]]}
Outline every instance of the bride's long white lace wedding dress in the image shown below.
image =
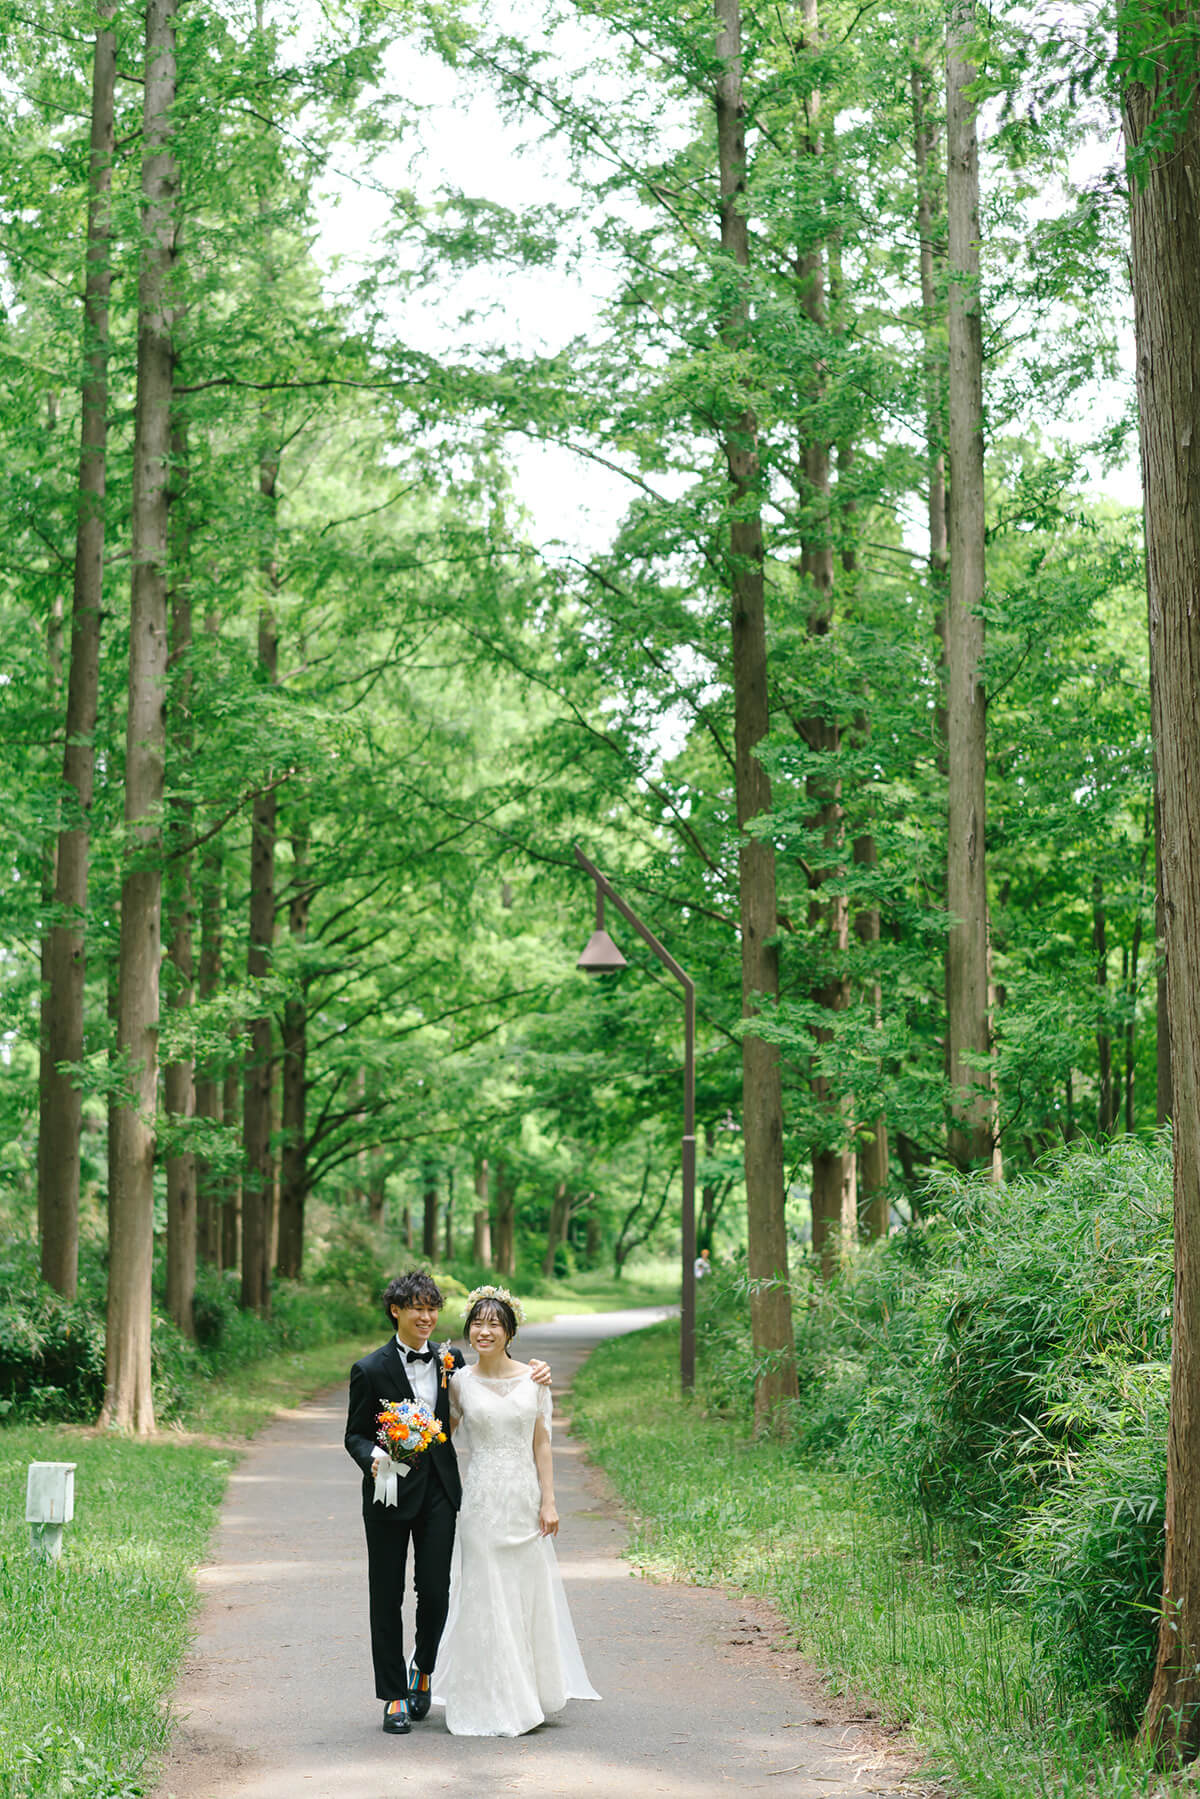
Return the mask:
{"type": "Polygon", "coordinates": [[[554,1545],[538,1535],[533,1432],[538,1418],[551,1428],[551,1392],[527,1373],[488,1380],[462,1367],[450,1378],[450,1403],[461,1419],[455,1448],[470,1463],[434,1704],[444,1704],[453,1736],[524,1736],[569,1698],[599,1698],[554,1545]]]}

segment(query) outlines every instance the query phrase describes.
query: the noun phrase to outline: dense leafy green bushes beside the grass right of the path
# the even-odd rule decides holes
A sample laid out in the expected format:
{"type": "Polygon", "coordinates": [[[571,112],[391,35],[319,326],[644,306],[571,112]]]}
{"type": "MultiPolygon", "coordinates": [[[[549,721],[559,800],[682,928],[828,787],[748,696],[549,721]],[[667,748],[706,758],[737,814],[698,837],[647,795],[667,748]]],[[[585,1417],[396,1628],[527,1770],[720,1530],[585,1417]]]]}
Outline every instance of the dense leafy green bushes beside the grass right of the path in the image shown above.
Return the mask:
{"type": "MultiPolygon", "coordinates": [[[[943,1178],[919,1223],[793,1290],[802,1479],[869,1482],[925,1554],[1020,1607],[1031,1686],[1135,1727],[1162,1583],[1169,1144],[1079,1142],[1002,1186],[943,1178]]],[[[743,1265],[718,1265],[703,1396],[743,1428],[747,1310],[743,1265]]]]}

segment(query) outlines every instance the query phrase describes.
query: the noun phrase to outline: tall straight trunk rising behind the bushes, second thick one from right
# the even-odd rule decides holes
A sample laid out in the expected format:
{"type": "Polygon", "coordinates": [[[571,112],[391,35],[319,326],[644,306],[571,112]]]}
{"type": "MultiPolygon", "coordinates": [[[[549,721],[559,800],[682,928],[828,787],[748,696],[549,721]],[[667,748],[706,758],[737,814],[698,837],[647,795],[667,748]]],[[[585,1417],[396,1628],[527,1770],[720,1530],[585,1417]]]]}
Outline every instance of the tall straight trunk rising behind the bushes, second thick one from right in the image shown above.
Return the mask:
{"type": "Polygon", "coordinates": [[[988,1018],[988,725],[984,657],[984,351],[979,299],[979,139],[970,88],[972,0],[946,31],[946,219],[950,236],[950,608],[946,1024],[950,1155],[991,1164],[995,1092],[988,1018]]]}

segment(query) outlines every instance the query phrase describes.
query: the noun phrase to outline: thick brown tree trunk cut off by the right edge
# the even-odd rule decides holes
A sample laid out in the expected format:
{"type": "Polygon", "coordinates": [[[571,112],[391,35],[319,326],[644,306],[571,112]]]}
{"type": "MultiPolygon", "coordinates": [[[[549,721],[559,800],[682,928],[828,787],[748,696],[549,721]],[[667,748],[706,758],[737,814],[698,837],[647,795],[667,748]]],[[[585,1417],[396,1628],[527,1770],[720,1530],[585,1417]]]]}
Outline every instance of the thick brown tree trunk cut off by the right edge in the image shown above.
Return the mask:
{"type": "Polygon", "coordinates": [[[1166,1567],[1144,1732],[1200,1752],[1200,11],[1123,7],[1137,390],[1150,570],[1150,666],[1162,802],[1162,898],[1175,1087],[1175,1315],[1166,1567]],[[1180,31],[1173,32],[1171,22],[1180,31]],[[1182,36],[1182,27],[1191,38],[1182,36]],[[1164,50],[1164,41],[1169,49],[1164,50]],[[1153,133],[1162,142],[1153,144],[1153,133]],[[1151,137],[1148,144],[1146,139],[1151,137]]]}

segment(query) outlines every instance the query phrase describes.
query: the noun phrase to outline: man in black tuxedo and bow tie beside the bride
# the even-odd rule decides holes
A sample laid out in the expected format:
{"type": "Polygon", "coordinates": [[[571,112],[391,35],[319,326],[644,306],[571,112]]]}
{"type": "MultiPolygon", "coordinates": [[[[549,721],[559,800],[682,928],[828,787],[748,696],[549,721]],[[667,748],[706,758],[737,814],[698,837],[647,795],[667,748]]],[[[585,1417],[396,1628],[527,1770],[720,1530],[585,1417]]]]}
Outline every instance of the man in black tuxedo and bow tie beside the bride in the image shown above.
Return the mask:
{"type": "MultiPolygon", "coordinates": [[[[462,1367],[457,1349],[448,1362],[428,1347],[444,1301],[423,1268],[389,1281],[383,1308],[396,1335],[354,1362],[345,1419],[345,1448],[363,1473],[362,1511],[367,1533],[367,1585],[371,1592],[371,1657],[374,1691],[383,1700],[383,1729],[405,1736],[412,1718],[428,1716],[430,1675],[450,1605],[450,1554],[462,1502],[459,1464],[450,1443],[448,1378],[462,1367]],[[421,1400],[446,1432],[408,1464],[399,1479],[396,1504],[376,1504],[374,1464],[385,1454],[376,1443],[378,1412],[389,1400],[421,1400]],[[405,1660],[401,1603],[405,1565],[412,1544],[417,1592],[417,1630],[412,1666],[405,1660]]],[[[533,1378],[549,1385],[545,1362],[531,1362],[533,1378]]]]}

